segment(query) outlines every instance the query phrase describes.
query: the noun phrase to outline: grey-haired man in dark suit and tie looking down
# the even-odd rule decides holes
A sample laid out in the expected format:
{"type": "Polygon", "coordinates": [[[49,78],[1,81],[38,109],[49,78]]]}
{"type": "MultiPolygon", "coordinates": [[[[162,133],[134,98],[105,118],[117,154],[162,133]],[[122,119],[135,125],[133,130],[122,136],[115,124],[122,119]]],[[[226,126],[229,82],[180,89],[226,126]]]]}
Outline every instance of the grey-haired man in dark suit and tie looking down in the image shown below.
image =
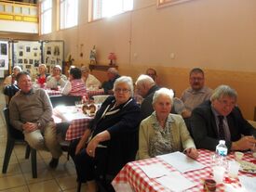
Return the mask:
{"type": "Polygon", "coordinates": [[[191,131],[197,148],[215,150],[219,140],[225,140],[229,150],[248,150],[255,146],[252,135],[256,135],[256,129],[243,118],[236,97],[234,89],[220,85],[209,101],[192,111],[191,131]]]}

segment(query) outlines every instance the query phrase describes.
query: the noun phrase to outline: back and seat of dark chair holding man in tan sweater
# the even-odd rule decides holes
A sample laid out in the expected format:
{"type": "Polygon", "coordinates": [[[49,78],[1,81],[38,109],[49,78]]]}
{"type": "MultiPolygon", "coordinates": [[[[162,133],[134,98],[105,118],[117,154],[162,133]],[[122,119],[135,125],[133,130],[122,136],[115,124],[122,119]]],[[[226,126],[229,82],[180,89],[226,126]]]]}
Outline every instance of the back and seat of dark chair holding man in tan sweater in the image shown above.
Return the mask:
{"type": "Polygon", "coordinates": [[[24,134],[20,132],[20,130],[15,129],[9,121],[9,109],[5,108],[3,109],[6,125],[7,125],[7,137],[9,139],[15,139],[15,140],[24,140],[24,134]]]}

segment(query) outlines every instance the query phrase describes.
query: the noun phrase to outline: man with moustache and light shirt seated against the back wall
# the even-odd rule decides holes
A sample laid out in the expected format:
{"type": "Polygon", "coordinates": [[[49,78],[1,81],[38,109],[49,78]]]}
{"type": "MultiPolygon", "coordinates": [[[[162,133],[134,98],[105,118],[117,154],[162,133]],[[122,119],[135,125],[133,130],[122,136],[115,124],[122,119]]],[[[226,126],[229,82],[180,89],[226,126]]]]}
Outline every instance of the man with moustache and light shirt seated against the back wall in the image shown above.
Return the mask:
{"type": "Polygon", "coordinates": [[[185,105],[183,117],[190,117],[191,111],[208,100],[212,93],[212,90],[205,86],[204,71],[199,68],[194,68],[190,71],[189,83],[191,87],[184,90],[181,97],[185,105]]]}

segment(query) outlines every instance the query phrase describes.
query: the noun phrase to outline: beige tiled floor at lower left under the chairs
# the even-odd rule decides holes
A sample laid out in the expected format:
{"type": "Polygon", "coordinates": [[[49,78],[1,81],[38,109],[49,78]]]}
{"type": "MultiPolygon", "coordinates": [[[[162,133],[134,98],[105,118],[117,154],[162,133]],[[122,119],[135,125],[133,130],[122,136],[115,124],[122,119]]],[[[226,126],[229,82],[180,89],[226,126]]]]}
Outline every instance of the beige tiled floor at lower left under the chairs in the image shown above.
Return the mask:
{"type": "MultiPolygon", "coordinates": [[[[2,87],[0,86],[0,90],[2,87]]],[[[5,107],[5,99],[0,94],[0,168],[2,170],[7,132],[3,119],[2,109],[5,107]]],[[[7,173],[0,173],[0,191],[5,192],[73,192],[76,191],[76,173],[73,160],[67,160],[66,153],[61,156],[59,166],[56,170],[48,168],[47,164],[51,156],[46,151],[37,152],[37,176],[32,178],[31,160],[25,160],[25,146],[16,145],[9,161],[7,173]]],[[[82,186],[81,191],[87,191],[82,186]]]]}

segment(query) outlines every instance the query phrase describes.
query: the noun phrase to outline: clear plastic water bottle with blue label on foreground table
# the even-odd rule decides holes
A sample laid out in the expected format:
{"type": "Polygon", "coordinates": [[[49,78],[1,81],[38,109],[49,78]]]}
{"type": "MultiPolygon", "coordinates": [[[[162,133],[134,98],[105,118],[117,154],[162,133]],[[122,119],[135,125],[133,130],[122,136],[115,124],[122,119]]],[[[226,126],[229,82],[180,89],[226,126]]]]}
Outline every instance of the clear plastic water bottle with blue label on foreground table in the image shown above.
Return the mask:
{"type": "Polygon", "coordinates": [[[218,146],[216,146],[215,164],[226,168],[227,166],[226,156],[227,156],[227,147],[225,145],[225,141],[220,140],[218,146]]]}

